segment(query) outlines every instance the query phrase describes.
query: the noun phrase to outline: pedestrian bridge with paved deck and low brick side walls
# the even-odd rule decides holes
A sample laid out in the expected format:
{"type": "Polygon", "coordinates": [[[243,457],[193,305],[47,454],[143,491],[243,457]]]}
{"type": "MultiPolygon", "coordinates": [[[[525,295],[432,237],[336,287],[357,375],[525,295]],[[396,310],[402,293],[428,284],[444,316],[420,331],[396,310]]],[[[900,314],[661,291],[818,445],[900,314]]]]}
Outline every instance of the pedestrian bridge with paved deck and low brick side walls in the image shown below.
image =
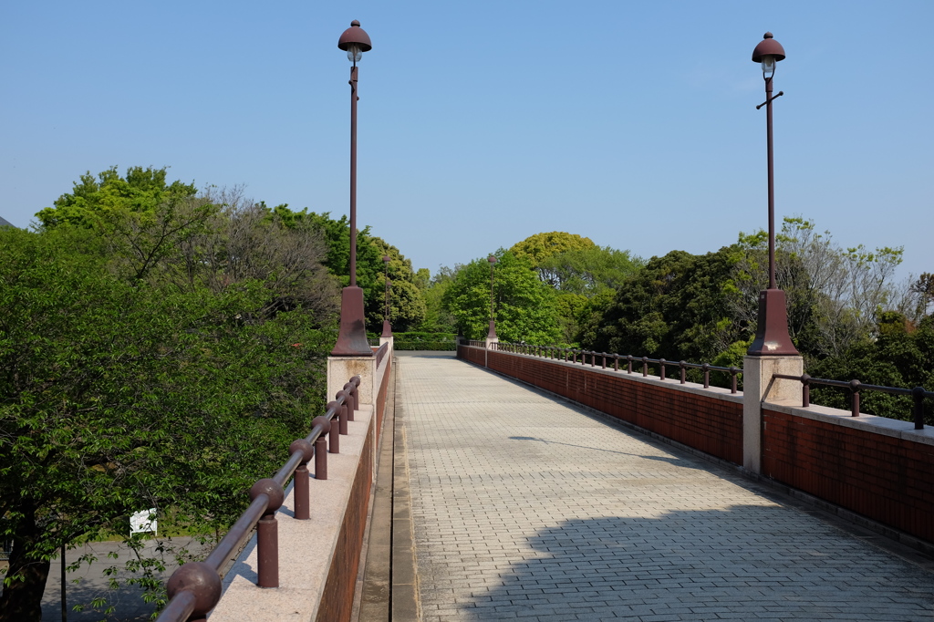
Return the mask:
{"type": "MultiPolygon", "coordinates": [[[[372,502],[347,476],[343,523],[308,526],[331,551],[279,537],[320,587],[288,563],[256,587],[248,546],[210,619],[934,618],[930,428],[767,395],[754,472],[729,389],[483,347],[392,360],[362,396],[385,417],[358,417],[383,429],[372,502]],[[369,511],[358,567],[347,523],[369,511]]],[[[284,532],[308,522],[290,508],[284,532]]]]}

